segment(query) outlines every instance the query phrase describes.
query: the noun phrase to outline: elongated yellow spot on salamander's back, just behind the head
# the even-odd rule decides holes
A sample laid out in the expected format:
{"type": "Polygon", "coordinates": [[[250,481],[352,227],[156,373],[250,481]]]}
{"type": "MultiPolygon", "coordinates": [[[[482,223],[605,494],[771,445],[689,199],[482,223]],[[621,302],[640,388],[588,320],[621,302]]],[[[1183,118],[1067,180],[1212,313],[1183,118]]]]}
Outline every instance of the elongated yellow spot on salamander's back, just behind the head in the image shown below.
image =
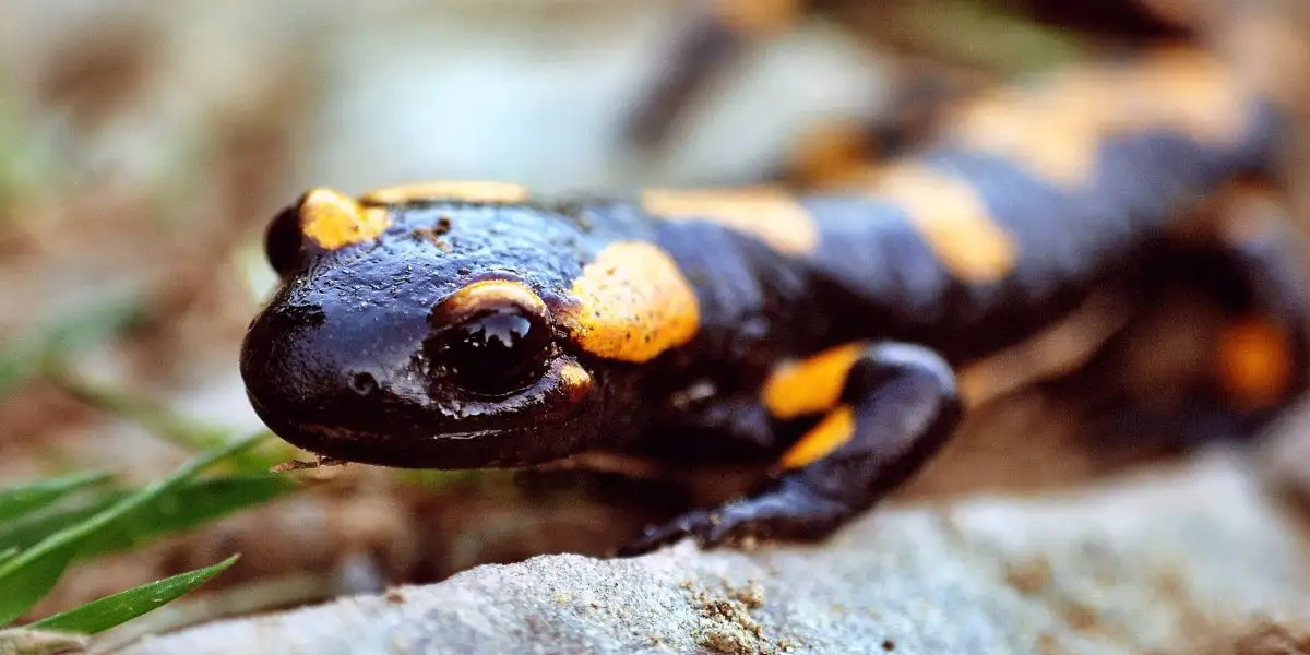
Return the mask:
{"type": "Polygon", "coordinates": [[[814,216],[781,189],[647,189],[642,208],[668,220],[718,223],[755,236],[779,253],[802,255],[819,244],[814,216]]]}

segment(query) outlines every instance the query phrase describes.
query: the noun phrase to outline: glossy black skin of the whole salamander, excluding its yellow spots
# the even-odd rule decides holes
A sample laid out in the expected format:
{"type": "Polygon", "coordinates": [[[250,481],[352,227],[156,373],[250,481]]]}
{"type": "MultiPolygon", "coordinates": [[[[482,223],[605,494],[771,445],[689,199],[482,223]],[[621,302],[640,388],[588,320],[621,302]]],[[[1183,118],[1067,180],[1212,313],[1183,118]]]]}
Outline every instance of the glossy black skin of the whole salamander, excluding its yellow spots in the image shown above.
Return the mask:
{"type": "MultiPolygon", "coordinates": [[[[624,552],[686,536],[707,546],[821,538],[948,439],[960,417],[956,367],[1032,335],[1093,290],[1140,284],[1180,210],[1269,161],[1280,123],[1264,106],[1251,118],[1227,145],[1167,132],[1108,138],[1081,191],[997,157],[924,152],[921,162],[972,185],[1017,241],[1017,263],[989,283],[937,261],[900,207],[859,196],[800,199],[820,228],[804,255],[622,200],[436,198],[388,206],[393,223],[379,238],[328,252],[300,236],[290,207],[269,236],[283,286],[250,325],[241,372],[270,428],[346,461],[521,466],[608,449],[768,464],[823,418],[769,415],[760,389],[773,367],[867,342],[841,393],[855,426],[845,445],[745,498],[652,527],[624,552]],[[659,245],[700,301],[694,337],[650,362],[599,358],[561,320],[576,308],[570,288],[583,267],[620,240],[659,245]],[[449,309],[452,295],[489,279],[527,286],[545,309],[449,309]]],[[[1216,248],[1294,337],[1301,362],[1310,299],[1280,242],[1216,248]]]]}

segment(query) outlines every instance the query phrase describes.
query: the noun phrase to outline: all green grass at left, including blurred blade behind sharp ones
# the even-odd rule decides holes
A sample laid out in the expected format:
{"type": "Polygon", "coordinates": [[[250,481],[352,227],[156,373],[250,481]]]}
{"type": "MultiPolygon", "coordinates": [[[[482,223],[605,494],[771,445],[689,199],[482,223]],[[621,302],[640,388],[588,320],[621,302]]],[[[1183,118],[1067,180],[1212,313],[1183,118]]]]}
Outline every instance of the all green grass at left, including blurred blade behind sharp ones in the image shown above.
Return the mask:
{"type": "Polygon", "coordinates": [[[151,485],[132,489],[106,472],[79,472],[0,489],[0,654],[62,652],[194,591],[238,554],[193,571],[148,582],[84,605],[16,625],[77,563],[122,553],[195,529],[291,491],[269,473],[272,458],[253,447],[269,434],[233,439],[151,398],[76,373],[69,358],[111,341],[140,316],[136,303],[106,303],[68,317],[0,352],[0,396],[41,376],[71,397],[130,421],[196,455],[151,485]],[[217,464],[227,472],[202,477],[217,464]]]}

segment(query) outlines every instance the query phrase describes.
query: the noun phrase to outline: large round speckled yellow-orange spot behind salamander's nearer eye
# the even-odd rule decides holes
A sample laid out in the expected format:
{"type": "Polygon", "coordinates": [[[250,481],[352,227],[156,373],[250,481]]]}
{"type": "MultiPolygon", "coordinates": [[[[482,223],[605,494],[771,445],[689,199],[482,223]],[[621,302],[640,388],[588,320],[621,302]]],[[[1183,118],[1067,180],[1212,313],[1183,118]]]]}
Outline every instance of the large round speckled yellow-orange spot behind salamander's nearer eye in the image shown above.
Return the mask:
{"type": "Polygon", "coordinates": [[[696,335],[696,292],[664,250],[643,241],[605,246],[572,283],[565,322],[587,352],[647,362],[696,335]]]}

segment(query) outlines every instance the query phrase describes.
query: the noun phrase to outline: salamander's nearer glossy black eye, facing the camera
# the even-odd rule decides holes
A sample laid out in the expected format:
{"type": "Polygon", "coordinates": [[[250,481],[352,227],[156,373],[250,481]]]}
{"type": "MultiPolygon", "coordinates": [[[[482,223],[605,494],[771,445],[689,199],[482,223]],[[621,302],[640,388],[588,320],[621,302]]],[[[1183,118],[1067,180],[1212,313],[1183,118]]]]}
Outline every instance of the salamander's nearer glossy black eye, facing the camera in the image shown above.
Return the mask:
{"type": "Polygon", "coordinates": [[[447,331],[441,360],[456,384],[479,394],[508,394],[534,383],[546,368],[550,328],[523,308],[479,312],[447,331]]]}

